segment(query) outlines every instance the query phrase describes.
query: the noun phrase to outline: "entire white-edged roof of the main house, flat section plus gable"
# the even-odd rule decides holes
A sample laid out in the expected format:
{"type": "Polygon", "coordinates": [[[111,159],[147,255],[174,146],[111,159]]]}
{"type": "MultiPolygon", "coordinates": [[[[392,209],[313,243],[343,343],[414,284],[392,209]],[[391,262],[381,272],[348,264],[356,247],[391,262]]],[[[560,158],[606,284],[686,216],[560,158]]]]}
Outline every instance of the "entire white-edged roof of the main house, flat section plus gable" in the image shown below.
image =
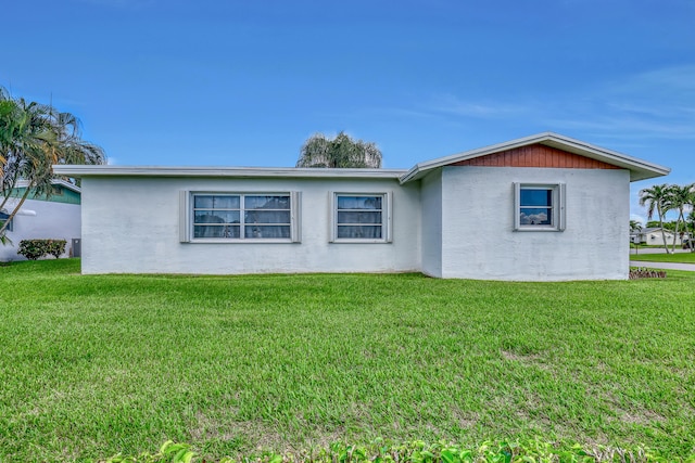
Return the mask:
{"type": "MultiPolygon", "coordinates": [[[[68,177],[236,177],[236,178],[343,178],[343,179],[394,179],[407,183],[421,179],[434,169],[462,160],[486,156],[501,151],[531,144],[563,150],[569,153],[601,160],[630,170],[630,181],[650,179],[668,175],[668,167],[594,146],[557,133],[544,132],[536,136],[480,147],[451,156],[438,157],[416,164],[406,169],[337,169],[298,167],[169,167],[169,166],[78,166],[58,165],[53,171],[68,177]]],[[[67,182],[65,182],[67,183],[67,182]]],[[[68,183],[70,184],[70,183],[68,183]]]]}

